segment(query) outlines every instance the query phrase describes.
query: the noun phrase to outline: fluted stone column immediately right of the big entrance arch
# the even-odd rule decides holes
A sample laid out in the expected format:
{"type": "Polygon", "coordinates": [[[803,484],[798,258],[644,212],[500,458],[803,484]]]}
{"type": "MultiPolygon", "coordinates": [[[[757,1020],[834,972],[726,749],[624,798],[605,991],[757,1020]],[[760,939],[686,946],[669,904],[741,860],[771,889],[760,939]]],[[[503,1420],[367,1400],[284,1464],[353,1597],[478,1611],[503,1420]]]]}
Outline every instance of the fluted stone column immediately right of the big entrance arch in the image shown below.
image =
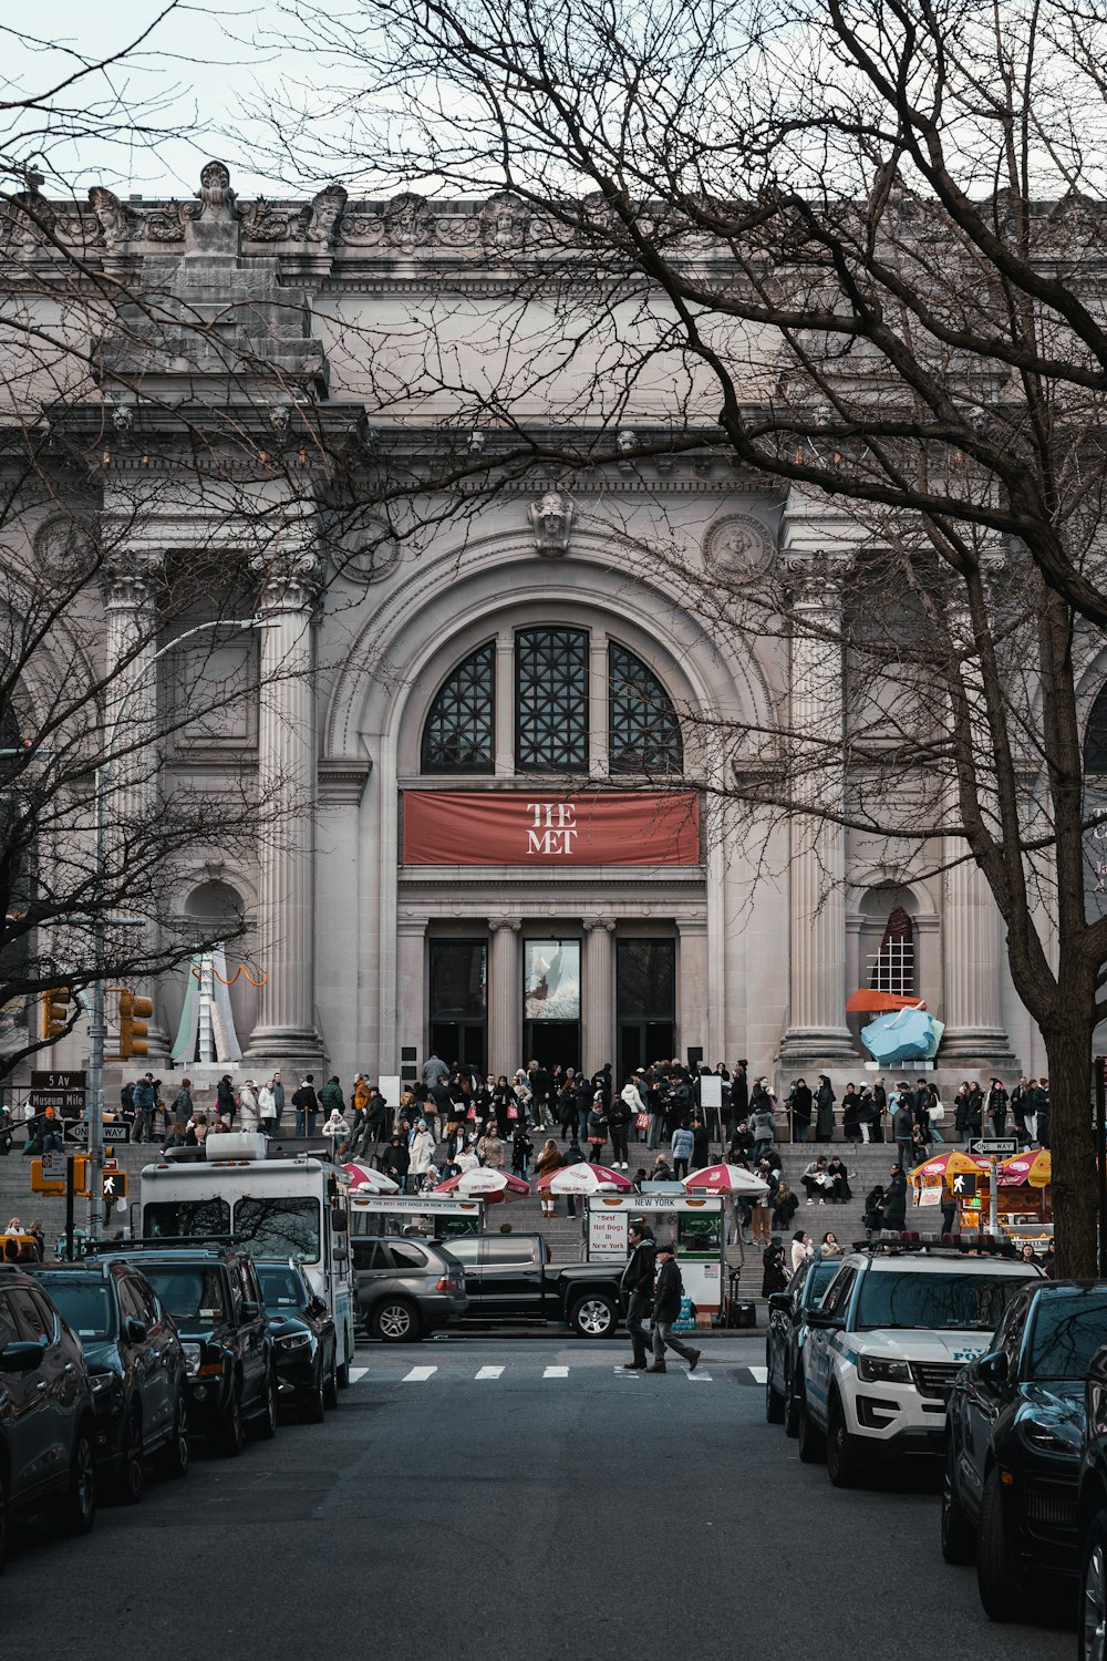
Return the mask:
{"type": "Polygon", "coordinates": [[[841,558],[808,556],[792,571],[790,1018],[785,1066],[856,1063],[845,1023],[845,830],[820,816],[843,791],[841,558]],[[823,759],[820,759],[820,756],[823,759]],[[805,816],[803,807],[812,814],[805,816]]]}

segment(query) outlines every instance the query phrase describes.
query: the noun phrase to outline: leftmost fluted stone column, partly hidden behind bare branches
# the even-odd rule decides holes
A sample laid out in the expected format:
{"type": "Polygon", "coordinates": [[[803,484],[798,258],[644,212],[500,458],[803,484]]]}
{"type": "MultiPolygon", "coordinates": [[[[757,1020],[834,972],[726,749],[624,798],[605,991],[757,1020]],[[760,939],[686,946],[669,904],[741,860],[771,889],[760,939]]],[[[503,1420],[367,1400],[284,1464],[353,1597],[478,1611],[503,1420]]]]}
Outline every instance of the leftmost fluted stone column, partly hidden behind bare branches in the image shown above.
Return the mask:
{"type": "MultiPolygon", "coordinates": [[[[158,605],[154,583],[161,576],[161,555],[134,550],[126,563],[116,565],[105,581],[106,615],[106,731],[105,742],[115,728],[115,751],[144,739],[148,747],[131,749],[115,762],[115,776],[108,794],[108,870],[110,882],[119,887],[113,860],[119,855],[118,827],[126,821],[151,824],[158,807],[158,671],[151,659],[158,649],[158,605]],[[128,688],[133,691],[128,696],[128,688]],[[126,708],[124,708],[126,701],[126,708]]],[[[153,952],[156,924],[149,920],[144,930],[143,950],[153,952]]],[[[158,988],[151,980],[134,980],[131,992],[153,998],[154,1013],[149,1020],[146,1048],[151,1060],[169,1053],[169,1035],[161,1023],[158,988]]],[[[115,1020],[111,1000],[110,1020],[115,1020]]],[[[110,1040],[110,1050],[113,1050],[110,1040]]]]}

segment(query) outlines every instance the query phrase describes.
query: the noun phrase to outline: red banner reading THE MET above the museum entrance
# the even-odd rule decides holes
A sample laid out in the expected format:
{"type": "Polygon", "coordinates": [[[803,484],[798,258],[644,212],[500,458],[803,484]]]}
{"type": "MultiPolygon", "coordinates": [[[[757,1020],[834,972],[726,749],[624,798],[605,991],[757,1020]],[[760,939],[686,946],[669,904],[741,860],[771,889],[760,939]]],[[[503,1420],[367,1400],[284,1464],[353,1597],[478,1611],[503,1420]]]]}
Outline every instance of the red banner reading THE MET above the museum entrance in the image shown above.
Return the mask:
{"type": "Polygon", "coordinates": [[[692,791],[405,791],[405,865],[699,865],[692,791]]]}

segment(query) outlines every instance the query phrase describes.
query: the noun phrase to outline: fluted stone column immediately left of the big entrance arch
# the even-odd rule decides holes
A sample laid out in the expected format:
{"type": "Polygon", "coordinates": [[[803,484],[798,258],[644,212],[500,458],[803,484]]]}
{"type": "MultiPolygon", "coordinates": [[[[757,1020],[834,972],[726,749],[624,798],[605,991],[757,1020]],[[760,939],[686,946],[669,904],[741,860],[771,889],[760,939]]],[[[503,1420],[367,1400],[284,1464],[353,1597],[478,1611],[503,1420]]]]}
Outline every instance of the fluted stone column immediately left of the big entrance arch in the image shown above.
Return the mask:
{"type": "Polygon", "coordinates": [[[257,933],[267,980],[247,1056],[289,1061],[294,1071],[322,1063],[312,928],[317,568],[314,553],[266,560],[261,596],[272,625],[262,630],[257,746],[257,933]]]}

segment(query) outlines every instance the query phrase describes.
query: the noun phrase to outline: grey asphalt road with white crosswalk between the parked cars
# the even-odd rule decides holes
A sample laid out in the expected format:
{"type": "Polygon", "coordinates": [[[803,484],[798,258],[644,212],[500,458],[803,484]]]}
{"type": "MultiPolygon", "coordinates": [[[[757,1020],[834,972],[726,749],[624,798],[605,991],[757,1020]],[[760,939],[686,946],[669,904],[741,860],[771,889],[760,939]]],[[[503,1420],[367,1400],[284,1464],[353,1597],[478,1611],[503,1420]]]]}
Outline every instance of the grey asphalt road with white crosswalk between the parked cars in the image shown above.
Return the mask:
{"type": "Polygon", "coordinates": [[[88,1540],[30,1523],[5,1653],[1069,1661],[1047,1608],[986,1619],[924,1480],[838,1493],[800,1465],[765,1423],[762,1344],[705,1345],[694,1379],[619,1375],[614,1342],[367,1347],[324,1425],[151,1480],[88,1540]]]}

